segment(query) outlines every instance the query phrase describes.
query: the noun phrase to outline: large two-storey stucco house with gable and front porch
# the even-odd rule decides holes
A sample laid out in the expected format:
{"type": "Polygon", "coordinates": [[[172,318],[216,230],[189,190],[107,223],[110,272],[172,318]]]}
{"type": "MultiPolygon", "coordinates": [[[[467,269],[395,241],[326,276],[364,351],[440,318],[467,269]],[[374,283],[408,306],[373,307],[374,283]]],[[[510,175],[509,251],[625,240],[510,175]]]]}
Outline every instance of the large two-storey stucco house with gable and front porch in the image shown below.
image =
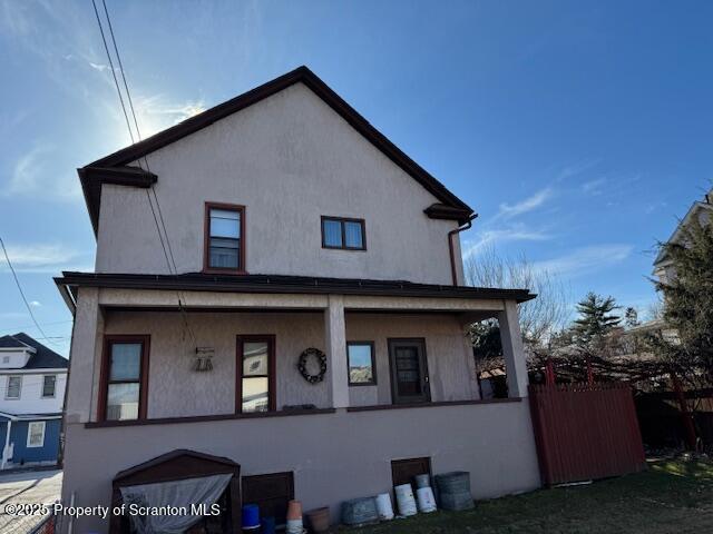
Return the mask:
{"type": "Polygon", "coordinates": [[[469,471],[476,497],[539,486],[517,308],[534,295],[463,286],[473,210],[312,71],[79,176],[97,253],[56,278],[75,315],[65,503],[219,473],[237,532],[241,492],[263,515],[295,497],[334,522],[419,469],[469,471]],[[489,317],[498,402],[479,398],[465,336],[489,317]]]}

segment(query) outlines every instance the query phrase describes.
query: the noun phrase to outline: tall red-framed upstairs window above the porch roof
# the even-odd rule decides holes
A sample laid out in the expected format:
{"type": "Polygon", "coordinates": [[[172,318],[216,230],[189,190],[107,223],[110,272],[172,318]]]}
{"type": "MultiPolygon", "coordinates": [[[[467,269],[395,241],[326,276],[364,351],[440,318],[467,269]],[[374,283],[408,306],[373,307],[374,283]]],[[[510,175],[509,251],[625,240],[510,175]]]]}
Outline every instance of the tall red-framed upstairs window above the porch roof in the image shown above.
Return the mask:
{"type": "Polygon", "coordinates": [[[227,204],[205,205],[205,270],[245,270],[245,208],[227,204]]]}

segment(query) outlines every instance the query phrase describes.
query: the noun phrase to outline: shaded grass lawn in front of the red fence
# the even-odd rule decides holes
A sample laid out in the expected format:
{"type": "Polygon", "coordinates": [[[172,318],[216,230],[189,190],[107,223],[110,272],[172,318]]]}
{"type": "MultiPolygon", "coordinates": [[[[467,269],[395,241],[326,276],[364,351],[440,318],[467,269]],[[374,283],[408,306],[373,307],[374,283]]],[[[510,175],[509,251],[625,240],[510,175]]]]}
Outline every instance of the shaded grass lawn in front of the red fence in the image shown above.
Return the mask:
{"type": "Polygon", "coordinates": [[[589,485],[481,501],[467,512],[434,512],[339,533],[695,533],[713,532],[713,463],[663,461],[589,485]]]}

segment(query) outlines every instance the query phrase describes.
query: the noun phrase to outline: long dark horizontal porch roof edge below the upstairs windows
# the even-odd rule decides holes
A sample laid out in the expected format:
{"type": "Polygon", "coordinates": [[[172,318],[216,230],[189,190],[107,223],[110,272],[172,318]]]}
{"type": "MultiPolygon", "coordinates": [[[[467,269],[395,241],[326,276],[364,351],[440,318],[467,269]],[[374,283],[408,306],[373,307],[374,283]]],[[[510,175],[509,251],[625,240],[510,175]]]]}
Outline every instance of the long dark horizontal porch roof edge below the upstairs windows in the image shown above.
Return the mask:
{"type": "Polygon", "coordinates": [[[535,298],[527,289],[414,284],[404,280],[316,278],[284,275],[115,275],[65,271],[55,278],[60,287],[109,287],[184,291],[365,295],[382,297],[487,298],[524,303],[535,298]]]}

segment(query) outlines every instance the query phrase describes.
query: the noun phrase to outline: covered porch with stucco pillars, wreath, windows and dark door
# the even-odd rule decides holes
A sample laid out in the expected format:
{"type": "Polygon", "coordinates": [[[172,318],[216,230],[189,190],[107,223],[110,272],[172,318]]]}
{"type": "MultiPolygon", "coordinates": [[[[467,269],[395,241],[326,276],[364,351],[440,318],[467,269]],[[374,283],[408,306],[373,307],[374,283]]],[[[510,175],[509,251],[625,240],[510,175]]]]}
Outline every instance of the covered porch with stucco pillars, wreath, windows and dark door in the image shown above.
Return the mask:
{"type": "Polygon", "coordinates": [[[510,396],[527,395],[515,298],[79,293],[77,313],[92,319],[80,324],[96,327],[77,332],[75,348],[86,344],[101,369],[87,402],[68,406],[86,423],[477,402],[466,328],[489,317],[501,326],[510,396]],[[144,345],[140,399],[129,416],[113,415],[104,404],[109,353],[134,342],[144,345]]]}

